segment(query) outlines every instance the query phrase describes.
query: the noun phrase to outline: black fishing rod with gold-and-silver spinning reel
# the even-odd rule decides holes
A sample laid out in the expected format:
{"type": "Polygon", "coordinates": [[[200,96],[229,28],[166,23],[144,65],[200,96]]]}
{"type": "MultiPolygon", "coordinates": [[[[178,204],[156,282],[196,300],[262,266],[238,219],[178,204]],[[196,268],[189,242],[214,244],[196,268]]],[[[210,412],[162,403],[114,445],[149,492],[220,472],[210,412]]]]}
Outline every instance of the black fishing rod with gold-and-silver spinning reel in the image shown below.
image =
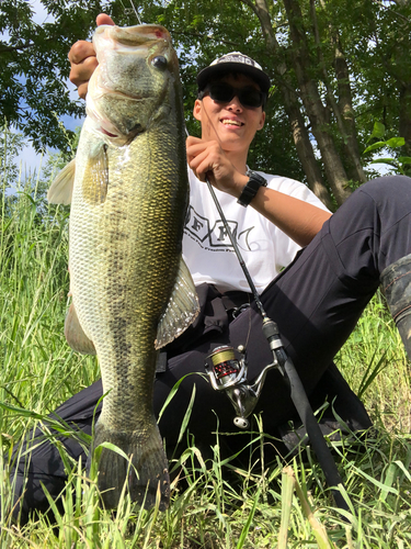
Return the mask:
{"type": "Polygon", "coordinates": [[[231,242],[231,245],[239,260],[241,269],[244,273],[244,277],[250,285],[251,293],[254,298],[255,304],[261,313],[263,320],[263,326],[262,326],[263,334],[267,339],[270,349],[273,354],[273,362],[263,368],[260,376],[253,382],[249,383],[247,379],[248,368],[246,360],[246,349],[242,346],[238,348],[238,351],[241,354],[241,359],[238,361],[236,359],[232,347],[230,346],[218,347],[217,349],[214,350],[214,352],[209,357],[207,357],[207,359],[210,359],[212,363],[206,362],[206,372],[210,380],[212,386],[216,391],[226,392],[237,413],[233,423],[237,427],[244,429],[249,427],[249,421],[247,419],[247,417],[253,412],[258,403],[258,400],[260,397],[260,394],[264,385],[266,373],[271,369],[277,368],[282,373],[282,376],[289,383],[292,401],[297,410],[297,413],[302,422],[302,425],[306,426],[309,440],[311,441],[318,461],[321,466],[321,469],[323,470],[327,484],[331,489],[335,504],[340,508],[349,511],[349,505],[346,504],[340,490],[338,490],[336,488],[339,484],[344,485],[344,483],[339,473],[339,470],[336,468],[330,448],[328,447],[326,439],[321,433],[316,416],[313,415],[311,405],[308,401],[307,393],[304,389],[302,382],[298,376],[294,362],[284,348],[277,324],[271,318],[269,318],[264,310],[264,306],[260,300],[260,295],[255,289],[254,282],[242,258],[236,238],[232,235],[230,226],[227,222],[227,219],[224,214],[220,203],[218,202],[218,199],[216,197],[216,193],[214,192],[213,186],[209,182],[208,177],[206,177],[206,183],[209,193],[213,198],[213,201],[217,208],[217,211],[221,217],[224,227],[231,242]]]}

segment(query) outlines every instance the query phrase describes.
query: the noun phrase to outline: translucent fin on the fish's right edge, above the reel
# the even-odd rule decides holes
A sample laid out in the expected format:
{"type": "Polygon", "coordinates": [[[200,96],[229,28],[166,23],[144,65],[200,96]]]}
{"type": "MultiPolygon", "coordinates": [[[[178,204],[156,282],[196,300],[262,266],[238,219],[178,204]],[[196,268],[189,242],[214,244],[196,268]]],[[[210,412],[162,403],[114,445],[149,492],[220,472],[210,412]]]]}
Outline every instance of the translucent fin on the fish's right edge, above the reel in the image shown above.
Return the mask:
{"type": "Polygon", "coordinates": [[[193,279],[181,258],[179,276],[157,328],[156,349],[179,337],[194,322],[198,311],[198,298],[193,279]]]}

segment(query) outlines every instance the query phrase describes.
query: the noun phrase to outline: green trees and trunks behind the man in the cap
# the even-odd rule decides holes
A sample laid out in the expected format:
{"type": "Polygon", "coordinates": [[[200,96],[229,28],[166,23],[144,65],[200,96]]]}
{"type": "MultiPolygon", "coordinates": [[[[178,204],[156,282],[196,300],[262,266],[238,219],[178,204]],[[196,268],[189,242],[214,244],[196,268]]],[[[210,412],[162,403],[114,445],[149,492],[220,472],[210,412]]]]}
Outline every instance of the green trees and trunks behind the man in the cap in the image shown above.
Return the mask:
{"type": "Polygon", "coordinates": [[[186,111],[198,68],[227,51],[250,55],[270,75],[269,122],[251,165],[305,180],[335,208],[367,179],[361,150],[375,120],[401,135],[411,156],[409,2],[231,0],[215,10],[202,0],[139,3],[144,21],[174,37],[186,111]]]}

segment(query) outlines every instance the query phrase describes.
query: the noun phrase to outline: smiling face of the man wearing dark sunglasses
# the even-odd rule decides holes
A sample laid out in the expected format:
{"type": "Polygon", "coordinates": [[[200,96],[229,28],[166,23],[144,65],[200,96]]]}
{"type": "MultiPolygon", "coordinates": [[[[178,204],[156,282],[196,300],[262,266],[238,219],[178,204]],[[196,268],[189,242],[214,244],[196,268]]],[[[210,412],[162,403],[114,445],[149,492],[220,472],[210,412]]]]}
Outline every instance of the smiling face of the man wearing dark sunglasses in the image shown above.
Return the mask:
{"type": "MultiPolygon", "coordinates": [[[[237,89],[253,87],[260,90],[258,83],[241,74],[227,75],[218,81],[237,89]]],[[[243,107],[237,96],[221,103],[207,94],[195,101],[193,113],[202,123],[202,138],[218,141],[226,152],[248,152],[255,132],[263,127],[265,120],[262,107],[243,107]]]]}

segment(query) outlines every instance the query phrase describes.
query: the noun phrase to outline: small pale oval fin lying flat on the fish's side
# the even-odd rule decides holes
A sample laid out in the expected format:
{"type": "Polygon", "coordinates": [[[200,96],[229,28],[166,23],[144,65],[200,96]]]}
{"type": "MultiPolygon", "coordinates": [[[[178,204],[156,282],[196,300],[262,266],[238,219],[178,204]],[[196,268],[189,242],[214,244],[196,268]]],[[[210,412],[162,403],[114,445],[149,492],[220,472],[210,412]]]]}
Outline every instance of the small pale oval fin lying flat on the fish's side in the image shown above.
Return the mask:
{"type": "Polygon", "coordinates": [[[89,154],[83,180],[82,195],[89,204],[98,205],[105,201],[109,188],[109,158],[106,145],[99,143],[89,154]]]}

